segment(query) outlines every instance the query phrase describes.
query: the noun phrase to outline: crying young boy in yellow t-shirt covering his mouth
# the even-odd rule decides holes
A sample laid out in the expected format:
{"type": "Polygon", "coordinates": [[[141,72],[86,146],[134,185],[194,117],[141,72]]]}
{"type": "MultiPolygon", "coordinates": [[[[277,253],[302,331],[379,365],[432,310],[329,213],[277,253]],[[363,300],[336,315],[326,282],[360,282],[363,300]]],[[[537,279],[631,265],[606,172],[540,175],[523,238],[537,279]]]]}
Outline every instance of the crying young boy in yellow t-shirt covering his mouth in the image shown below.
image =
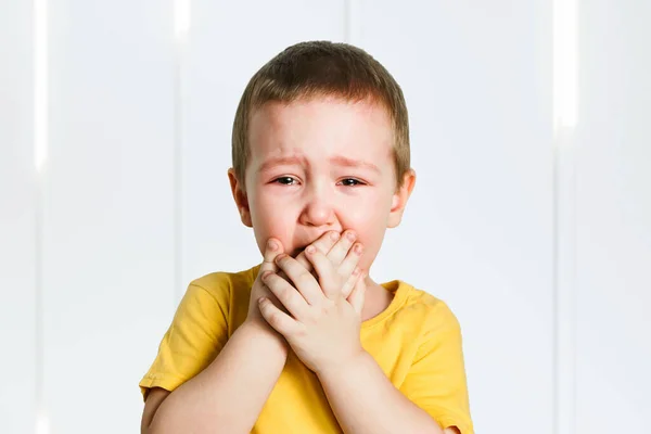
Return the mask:
{"type": "Polygon", "coordinates": [[[457,319],[369,276],[416,182],[388,72],[348,44],[288,48],[248,82],[232,157],[264,260],[190,284],[140,382],[142,432],[472,434],[457,319]]]}

